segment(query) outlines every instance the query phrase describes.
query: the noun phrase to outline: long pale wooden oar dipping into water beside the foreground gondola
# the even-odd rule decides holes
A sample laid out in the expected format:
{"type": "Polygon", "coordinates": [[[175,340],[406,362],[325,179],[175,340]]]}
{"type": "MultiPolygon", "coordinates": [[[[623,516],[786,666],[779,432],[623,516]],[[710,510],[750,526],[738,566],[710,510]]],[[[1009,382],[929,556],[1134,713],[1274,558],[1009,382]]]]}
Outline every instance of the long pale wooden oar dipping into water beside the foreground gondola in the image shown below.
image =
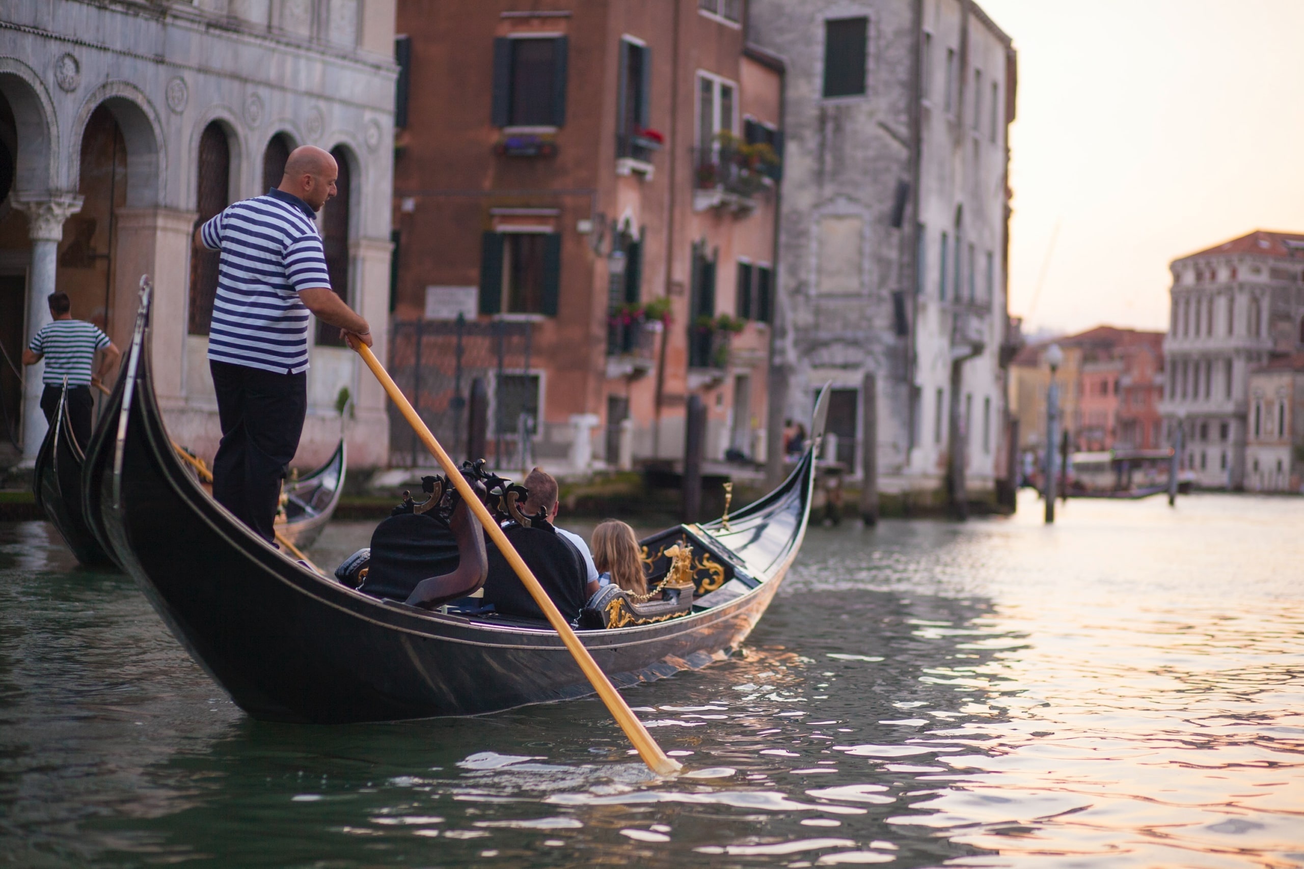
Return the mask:
{"type": "Polygon", "coordinates": [[[421,443],[424,443],[426,449],[429,449],[436,460],[438,460],[439,466],[443,468],[443,473],[447,474],[449,481],[456,486],[462,499],[467,502],[467,506],[471,507],[471,512],[473,512],[476,519],[480,520],[480,524],[484,525],[489,539],[494,542],[498,551],[502,552],[503,558],[507,559],[507,563],[511,564],[511,568],[516,572],[516,576],[520,577],[526,590],[529,591],[529,597],[532,597],[535,603],[539,605],[539,608],[544,611],[544,615],[548,618],[548,623],[553,625],[553,631],[561,636],[562,642],[566,644],[571,655],[575,657],[575,663],[578,663],[579,668],[584,671],[584,675],[597,691],[597,696],[602,698],[604,704],[606,704],[606,707],[610,710],[615,723],[621,726],[621,730],[625,731],[625,735],[634,744],[634,748],[638,749],[639,757],[643,758],[643,762],[659,775],[670,775],[678,770],[679,762],[666,757],[665,752],[661,750],[661,747],[656,744],[655,739],[652,739],[652,735],[648,734],[645,727],[643,727],[643,722],[638,719],[634,710],[629,707],[625,698],[621,697],[619,692],[612,685],[606,674],[604,674],[601,667],[597,666],[597,662],[593,661],[593,655],[588,653],[588,649],[585,649],[584,644],[579,641],[579,637],[575,636],[571,627],[566,624],[566,619],[563,619],[562,614],[558,612],[557,606],[553,603],[552,598],[548,597],[548,593],[544,591],[539,580],[535,578],[533,572],[526,562],[522,560],[520,554],[516,552],[511,541],[509,541],[507,535],[502,533],[501,528],[498,528],[498,522],[493,520],[493,516],[489,515],[485,506],[481,504],[480,499],[471,491],[471,485],[462,477],[462,472],[458,470],[455,464],[452,464],[452,459],[449,457],[449,453],[446,453],[443,447],[439,446],[439,442],[434,439],[434,435],[430,434],[430,430],[421,421],[421,417],[419,417],[416,410],[412,409],[407,397],[394,383],[394,379],[390,378],[389,371],[385,370],[385,366],[381,365],[379,360],[376,358],[376,354],[372,353],[372,348],[355,341],[352,337],[348,339],[348,343],[363,357],[363,361],[366,362],[366,367],[372,369],[372,374],[374,374],[376,379],[381,382],[382,387],[385,387],[385,392],[389,393],[390,401],[398,406],[403,418],[408,421],[408,425],[411,425],[417,436],[421,438],[421,443]]]}

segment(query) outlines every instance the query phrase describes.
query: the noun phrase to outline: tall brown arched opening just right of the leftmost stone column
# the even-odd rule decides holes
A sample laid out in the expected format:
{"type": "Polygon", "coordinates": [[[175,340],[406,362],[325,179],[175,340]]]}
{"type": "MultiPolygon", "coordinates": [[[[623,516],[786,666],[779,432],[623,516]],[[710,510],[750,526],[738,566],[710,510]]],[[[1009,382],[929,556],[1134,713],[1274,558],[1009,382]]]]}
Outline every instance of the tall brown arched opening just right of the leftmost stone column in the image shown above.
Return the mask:
{"type": "Polygon", "coordinates": [[[100,104],[82,130],[77,193],[81,211],[64,223],[59,245],[59,289],[68,293],[73,317],[110,331],[115,297],[116,216],[128,199],[126,139],[113,112],[100,104]]]}

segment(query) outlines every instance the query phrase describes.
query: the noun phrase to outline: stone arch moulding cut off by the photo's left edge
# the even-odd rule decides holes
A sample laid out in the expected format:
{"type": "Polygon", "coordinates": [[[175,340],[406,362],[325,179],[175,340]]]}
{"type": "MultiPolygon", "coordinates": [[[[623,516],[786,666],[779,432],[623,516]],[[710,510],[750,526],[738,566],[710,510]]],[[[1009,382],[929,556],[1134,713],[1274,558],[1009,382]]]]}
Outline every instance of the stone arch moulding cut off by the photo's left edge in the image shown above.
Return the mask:
{"type": "Polygon", "coordinates": [[[14,57],[0,57],[0,94],[13,112],[13,192],[42,194],[59,189],[59,125],[55,104],[40,77],[14,57]]]}

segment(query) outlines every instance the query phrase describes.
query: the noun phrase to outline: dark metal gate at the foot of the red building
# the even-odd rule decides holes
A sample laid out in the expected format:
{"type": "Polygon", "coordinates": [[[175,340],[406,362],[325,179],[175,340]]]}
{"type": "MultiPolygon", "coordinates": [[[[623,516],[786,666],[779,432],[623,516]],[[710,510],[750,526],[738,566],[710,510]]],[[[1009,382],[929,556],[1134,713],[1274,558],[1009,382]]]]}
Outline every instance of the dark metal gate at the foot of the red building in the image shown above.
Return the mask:
{"type": "MultiPolygon", "coordinates": [[[[489,459],[524,466],[539,430],[539,377],[529,370],[529,322],[395,321],[390,375],[454,461],[489,459]],[[488,456],[468,456],[467,399],[479,378],[489,396],[488,456]]],[[[390,463],[430,465],[433,457],[390,405],[390,463]]]]}

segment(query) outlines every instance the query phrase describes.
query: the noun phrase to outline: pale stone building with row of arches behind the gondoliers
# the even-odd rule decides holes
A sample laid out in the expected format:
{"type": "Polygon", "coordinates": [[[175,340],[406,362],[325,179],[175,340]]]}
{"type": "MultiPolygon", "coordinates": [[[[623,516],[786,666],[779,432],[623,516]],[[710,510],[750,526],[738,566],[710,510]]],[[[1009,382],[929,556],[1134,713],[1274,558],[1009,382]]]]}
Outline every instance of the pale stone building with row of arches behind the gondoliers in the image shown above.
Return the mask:
{"type": "MultiPolygon", "coordinates": [[[[338,292],[383,354],[390,271],[393,0],[10,0],[0,21],[0,343],[13,357],[56,287],[73,317],[124,347],[141,275],[154,280],[155,383],[172,435],[211,456],[220,430],[209,378],[215,257],[197,220],[279,184],[303,143],[340,162],[319,221],[338,292]]],[[[296,464],[340,436],[356,408],[353,465],[386,463],[378,384],[330,330],[316,330],[296,464]]],[[[40,367],[0,377],[30,461],[46,423],[40,367]],[[8,379],[4,379],[8,378],[8,379]],[[21,406],[21,409],[20,409],[21,406]]]]}

